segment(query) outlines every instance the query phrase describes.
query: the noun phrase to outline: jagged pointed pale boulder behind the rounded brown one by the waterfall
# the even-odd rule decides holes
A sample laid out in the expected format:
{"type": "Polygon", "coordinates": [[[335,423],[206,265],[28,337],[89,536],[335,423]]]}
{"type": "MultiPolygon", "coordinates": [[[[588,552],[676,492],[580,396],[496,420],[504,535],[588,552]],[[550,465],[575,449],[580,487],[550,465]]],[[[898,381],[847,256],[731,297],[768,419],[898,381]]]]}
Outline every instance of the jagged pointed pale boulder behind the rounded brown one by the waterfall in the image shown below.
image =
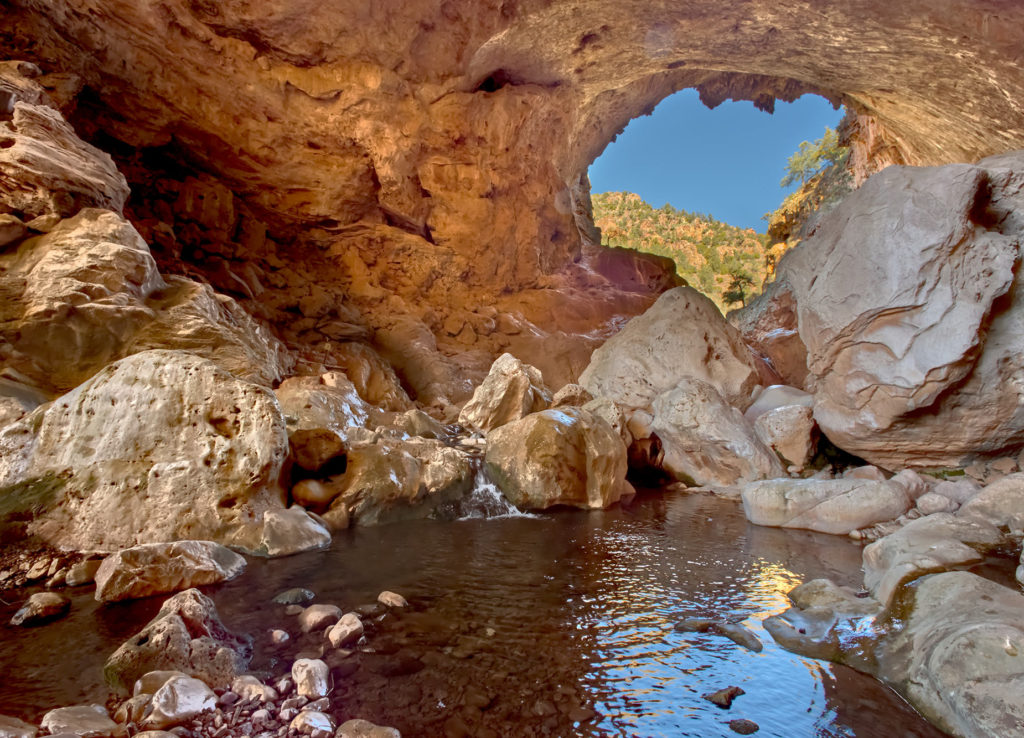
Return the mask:
{"type": "Polygon", "coordinates": [[[550,404],[551,392],[540,370],[505,353],[495,359],[483,382],[473,391],[459,422],[488,433],[550,404]]]}

